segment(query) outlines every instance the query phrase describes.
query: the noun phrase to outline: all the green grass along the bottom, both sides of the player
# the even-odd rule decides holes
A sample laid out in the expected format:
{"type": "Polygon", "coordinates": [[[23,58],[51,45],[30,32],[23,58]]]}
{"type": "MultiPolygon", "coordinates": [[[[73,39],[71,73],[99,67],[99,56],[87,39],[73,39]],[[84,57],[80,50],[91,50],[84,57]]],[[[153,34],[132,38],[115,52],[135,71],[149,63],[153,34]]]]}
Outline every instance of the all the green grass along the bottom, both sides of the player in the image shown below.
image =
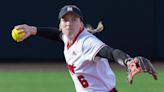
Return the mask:
{"type": "MultiPolygon", "coordinates": [[[[148,74],[135,76],[128,84],[125,71],[115,71],[119,92],[164,92],[164,71],[158,71],[159,80],[148,74]]],[[[75,92],[68,71],[0,71],[0,92],[75,92]]]]}

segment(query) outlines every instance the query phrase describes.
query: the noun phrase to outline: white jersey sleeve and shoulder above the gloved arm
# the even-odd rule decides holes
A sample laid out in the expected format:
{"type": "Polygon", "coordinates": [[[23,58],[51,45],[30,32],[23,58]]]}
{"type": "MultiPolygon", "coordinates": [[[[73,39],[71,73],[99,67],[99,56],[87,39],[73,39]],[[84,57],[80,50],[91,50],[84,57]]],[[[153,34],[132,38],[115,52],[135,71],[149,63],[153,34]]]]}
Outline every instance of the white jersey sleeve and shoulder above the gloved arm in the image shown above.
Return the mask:
{"type": "Polygon", "coordinates": [[[97,53],[106,46],[102,41],[96,37],[88,37],[83,44],[83,55],[86,60],[94,61],[97,53]]]}

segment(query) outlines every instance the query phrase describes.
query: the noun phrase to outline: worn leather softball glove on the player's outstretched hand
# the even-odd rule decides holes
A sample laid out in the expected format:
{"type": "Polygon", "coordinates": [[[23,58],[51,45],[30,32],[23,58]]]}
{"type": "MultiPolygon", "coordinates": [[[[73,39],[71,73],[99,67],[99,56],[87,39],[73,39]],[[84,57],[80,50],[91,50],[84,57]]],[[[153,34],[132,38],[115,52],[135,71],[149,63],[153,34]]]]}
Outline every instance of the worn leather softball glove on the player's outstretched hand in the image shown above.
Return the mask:
{"type": "Polygon", "coordinates": [[[157,72],[154,66],[151,64],[150,60],[138,56],[135,58],[128,58],[125,60],[128,71],[128,81],[130,84],[133,82],[133,78],[136,74],[140,72],[146,72],[153,76],[157,80],[157,72]]]}

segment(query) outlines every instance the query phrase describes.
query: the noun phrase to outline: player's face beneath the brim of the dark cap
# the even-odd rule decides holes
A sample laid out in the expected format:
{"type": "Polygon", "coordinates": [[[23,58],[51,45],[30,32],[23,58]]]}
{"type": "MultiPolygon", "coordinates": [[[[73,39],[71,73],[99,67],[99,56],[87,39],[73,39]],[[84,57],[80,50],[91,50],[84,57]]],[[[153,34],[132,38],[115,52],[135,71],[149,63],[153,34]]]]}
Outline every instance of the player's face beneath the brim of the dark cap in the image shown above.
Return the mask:
{"type": "Polygon", "coordinates": [[[83,22],[80,17],[74,13],[67,13],[60,20],[60,29],[68,38],[74,39],[77,33],[83,28],[83,22]]]}

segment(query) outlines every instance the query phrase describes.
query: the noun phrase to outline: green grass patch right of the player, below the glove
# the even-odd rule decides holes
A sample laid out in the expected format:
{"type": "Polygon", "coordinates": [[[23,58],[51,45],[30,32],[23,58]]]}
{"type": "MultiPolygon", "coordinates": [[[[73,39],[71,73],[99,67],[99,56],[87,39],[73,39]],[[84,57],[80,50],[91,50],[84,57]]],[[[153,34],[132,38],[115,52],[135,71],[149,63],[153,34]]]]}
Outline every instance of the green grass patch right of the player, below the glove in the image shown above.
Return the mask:
{"type": "Polygon", "coordinates": [[[127,82],[127,74],[116,71],[117,89],[120,92],[164,92],[164,71],[158,71],[158,80],[154,80],[148,73],[140,73],[135,76],[133,84],[127,82]]]}

